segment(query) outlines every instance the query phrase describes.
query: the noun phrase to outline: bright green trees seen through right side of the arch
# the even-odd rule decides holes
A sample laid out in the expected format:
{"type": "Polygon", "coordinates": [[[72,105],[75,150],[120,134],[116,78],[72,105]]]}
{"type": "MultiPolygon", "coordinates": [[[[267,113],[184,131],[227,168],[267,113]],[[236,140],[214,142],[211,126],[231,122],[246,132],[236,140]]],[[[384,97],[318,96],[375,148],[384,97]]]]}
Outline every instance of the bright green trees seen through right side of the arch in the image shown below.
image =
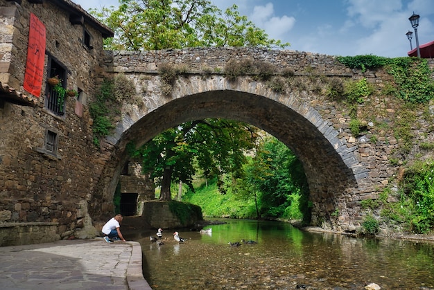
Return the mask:
{"type": "Polygon", "coordinates": [[[253,197],[258,217],[310,217],[309,187],[302,163],[286,145],[272,136],[259,143],[237,192],[253,197]]]}

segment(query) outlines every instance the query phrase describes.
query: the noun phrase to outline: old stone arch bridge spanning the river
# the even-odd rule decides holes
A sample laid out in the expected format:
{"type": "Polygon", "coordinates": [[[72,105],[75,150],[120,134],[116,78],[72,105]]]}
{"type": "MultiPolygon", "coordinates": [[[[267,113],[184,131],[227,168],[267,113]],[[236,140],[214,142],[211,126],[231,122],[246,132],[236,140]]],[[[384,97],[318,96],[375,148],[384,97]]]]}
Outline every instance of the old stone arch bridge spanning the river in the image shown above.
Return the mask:
{"type": "Polygon", "coordinates": [[[165,129],[200,118],[250,123],[295,152],[309,181],[312,222],[323,228],[354,231],[365,215],[360,201],[376,198],[397,173],[397,165],[388,161],[396,139],[388,136],[381,145],[381,140],[374,143],[367,134],[352,136],[348,112],[324,96],[332,79],[367,78],[381,83],[386,78],[381,72],[352,71],[328,55],[259,48],[112,52],[107,53],[105,66],[105,71],[123,73],[132,80],[137,96],[133,105],[124,102],[121,121],[114,134],[105,138],[112,153],[103,168],[102,176],[107,177],[96,187],[103,203],[112,201],[130,141],[142,145],[165,129]],[[267,81],[248,74],[227,78],[227,66],[245,60],[267,63],[274,76],[267,81]],[[183,71],[169,94],[162,93],[158,72],[162,64],[183,71]],[[272,89],[273,82],[278,82],[273,78],[283,80],[286,89],[272,89]]]}

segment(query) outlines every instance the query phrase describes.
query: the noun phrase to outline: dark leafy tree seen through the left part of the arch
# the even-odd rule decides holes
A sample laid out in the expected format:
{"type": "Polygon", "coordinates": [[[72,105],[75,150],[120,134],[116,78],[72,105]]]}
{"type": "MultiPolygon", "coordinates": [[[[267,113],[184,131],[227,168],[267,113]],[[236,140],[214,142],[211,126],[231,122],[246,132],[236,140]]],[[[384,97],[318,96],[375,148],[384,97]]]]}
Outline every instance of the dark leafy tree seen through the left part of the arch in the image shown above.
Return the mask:
{"type": "Polygon", "coordinates": [[[160,200],[171,200],[173,182],[182,181],[193,190],[195,165],[206,178],[229,172],[241,176],[256,130],[232,120],[194,120],[166,130],[139,149],[130,144],[128,150],[132,158],[143,160],[144,172],[161,185],[160,200]]]}

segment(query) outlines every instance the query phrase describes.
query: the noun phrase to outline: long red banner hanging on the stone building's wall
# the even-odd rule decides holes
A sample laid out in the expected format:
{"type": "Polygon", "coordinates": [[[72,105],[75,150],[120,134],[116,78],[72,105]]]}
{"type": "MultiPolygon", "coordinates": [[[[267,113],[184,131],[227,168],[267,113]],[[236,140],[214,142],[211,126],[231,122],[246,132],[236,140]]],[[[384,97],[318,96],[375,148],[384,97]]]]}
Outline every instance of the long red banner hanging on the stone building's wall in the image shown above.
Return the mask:
{"type": "Polygon", "coordinates": [[[26,72],[24,73],[24,89],[38,98],[41,96],[42,78],[44,77],[45,58],[45,26],[30,14],[28,31],[28,47],[26,72]]]}

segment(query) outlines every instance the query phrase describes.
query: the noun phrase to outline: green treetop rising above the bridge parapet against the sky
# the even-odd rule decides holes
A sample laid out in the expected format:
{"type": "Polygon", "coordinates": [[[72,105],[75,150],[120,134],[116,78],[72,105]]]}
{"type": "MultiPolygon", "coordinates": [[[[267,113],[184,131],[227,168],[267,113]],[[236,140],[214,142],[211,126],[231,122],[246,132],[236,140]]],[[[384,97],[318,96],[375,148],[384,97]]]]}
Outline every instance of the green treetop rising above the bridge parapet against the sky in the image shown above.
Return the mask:
{"type": "Polygon", "coordinates": [[[105,47],[113,50],[159,50],[209,46],[284,48],[288,43],[269,39],[238,12],[225,12],[208,0],[119,0],[119,8],[90,12],[113,31],[105,47]]]}

